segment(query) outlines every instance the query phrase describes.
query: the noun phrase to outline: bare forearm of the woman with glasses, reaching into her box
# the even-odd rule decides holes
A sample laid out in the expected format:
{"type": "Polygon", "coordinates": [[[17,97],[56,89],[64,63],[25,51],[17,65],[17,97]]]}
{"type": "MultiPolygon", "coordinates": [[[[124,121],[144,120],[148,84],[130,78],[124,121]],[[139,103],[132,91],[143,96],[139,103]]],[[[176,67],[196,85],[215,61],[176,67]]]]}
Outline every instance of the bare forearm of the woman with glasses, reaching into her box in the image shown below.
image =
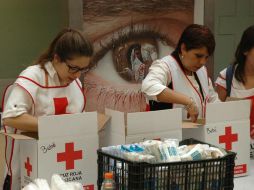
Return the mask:
{"type": "Polygon", "coordinates": [[[8,127],[13,127],[22,131],[37,132],[38,119],[27,113],[18,117],[9,117],[3,119],[3,124],[8,127]]]}

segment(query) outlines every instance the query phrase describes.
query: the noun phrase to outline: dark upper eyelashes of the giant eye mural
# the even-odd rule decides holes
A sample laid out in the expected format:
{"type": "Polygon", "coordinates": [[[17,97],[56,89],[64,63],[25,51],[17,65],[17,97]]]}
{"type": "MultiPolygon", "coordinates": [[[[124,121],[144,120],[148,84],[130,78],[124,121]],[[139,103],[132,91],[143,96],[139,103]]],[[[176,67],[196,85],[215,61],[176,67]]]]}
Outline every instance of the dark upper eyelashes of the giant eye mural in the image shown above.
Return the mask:
{"type": "MultiPolygon", "coordinates": [[[[157,29],[158,30],[158,29],[157,29]]],[[[145,25],[134,26],[131,24],[129,26],[128,31],[120,30],[118,32],[114,32],[109,42],[103,42],[101,40],[99,42],[101,49],[94,55],[92,64],[93,66],[110,50],[118,47],[122,44],[127,43],[130,40],[136,39],[144,39],[144,38],[153,38],[156,40],[160,40],[161,42],[166,42],[167,45],[175,46],[175,44],[166,37],[166,35],[157,32],[155,29],[149,27],[147,28],[145,25]],[[117,37],[116,37],[117,36],[117,37]]]]}

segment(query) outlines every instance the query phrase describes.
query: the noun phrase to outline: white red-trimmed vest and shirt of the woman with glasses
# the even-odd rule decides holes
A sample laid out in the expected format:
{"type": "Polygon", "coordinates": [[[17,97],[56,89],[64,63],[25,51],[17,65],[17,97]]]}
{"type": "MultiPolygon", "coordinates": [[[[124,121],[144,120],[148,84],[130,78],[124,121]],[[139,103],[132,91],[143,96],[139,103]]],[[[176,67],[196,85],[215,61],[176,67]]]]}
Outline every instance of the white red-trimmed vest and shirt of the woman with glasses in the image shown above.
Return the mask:
{"type": "MultiPolygon", "coordinates": [[[[8,88],[4,97],[2,118],[17,117],[23,113],[33,116],[64,113],[80,113],[85,107],[85,97],[81,82],[76,79],[70,84],[61,86],[58,74],[51,62],[30,66],[8,88]],[[47,72],[45,72],[45,70],[47,72]],[[46,74],[47,73],[47,74],[46,74]]],[[[8,132],[19,133],[19,130],[4,126],[8,132]]],[[[9,137],[5,145],[7,172],[12,176],[11,189],[20,190],[19,143],[9,137]]]]}

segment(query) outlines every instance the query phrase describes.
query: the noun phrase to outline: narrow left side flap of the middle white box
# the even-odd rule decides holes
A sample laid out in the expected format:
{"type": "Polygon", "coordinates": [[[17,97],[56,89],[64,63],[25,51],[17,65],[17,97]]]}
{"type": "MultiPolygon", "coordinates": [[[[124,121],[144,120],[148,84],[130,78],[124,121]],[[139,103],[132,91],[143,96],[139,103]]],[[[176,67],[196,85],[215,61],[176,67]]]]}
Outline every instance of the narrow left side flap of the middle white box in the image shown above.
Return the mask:
{"type": "Polygon", "coordinates": [[[107,130],[111,133],[125,136],[125,114],[111,109],[106,109],[105,114],[111,117],[107,130]]]}

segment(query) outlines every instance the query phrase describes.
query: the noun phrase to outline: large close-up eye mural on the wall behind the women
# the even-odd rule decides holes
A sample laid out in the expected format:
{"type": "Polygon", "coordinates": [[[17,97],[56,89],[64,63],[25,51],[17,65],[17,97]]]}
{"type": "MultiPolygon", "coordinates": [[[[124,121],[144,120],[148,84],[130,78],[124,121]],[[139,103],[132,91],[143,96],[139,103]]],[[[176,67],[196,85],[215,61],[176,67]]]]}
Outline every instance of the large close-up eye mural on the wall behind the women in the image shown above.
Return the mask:
{"type": "Polygon", "coordinates": [[[145,111],[142,80],[173,51],[193,14],[194,0],[83,0],[83,29],[95,49],[84,76],[86,111],[145,111]]]}

